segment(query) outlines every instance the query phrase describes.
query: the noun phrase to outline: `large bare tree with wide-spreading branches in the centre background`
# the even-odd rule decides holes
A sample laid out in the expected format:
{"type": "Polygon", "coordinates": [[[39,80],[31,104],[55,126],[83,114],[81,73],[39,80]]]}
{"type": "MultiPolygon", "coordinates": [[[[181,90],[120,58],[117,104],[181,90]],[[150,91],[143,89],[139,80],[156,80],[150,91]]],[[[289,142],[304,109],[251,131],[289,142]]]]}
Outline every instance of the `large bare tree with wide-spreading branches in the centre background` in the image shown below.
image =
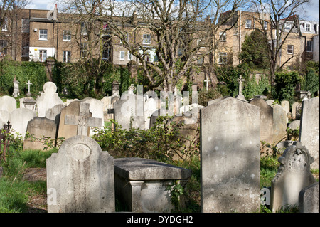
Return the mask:
{"type": "Polygon", "coordinates": [[[108,2],[108,25],[142,64],[150,87],[173,91],[197,60],[210,54],[215,45],[214,34],[223,23],[218,23],[220,14],[230,9],[228,16],[232,17],[241,0],[132,0],[121,7],[119,1],[108,2]],[[127,40],[128,33],[138,31],[151,34],[152,46],[127,40]],[[158,58],[156,63],[146,58],[151,48],[158,58]]]}

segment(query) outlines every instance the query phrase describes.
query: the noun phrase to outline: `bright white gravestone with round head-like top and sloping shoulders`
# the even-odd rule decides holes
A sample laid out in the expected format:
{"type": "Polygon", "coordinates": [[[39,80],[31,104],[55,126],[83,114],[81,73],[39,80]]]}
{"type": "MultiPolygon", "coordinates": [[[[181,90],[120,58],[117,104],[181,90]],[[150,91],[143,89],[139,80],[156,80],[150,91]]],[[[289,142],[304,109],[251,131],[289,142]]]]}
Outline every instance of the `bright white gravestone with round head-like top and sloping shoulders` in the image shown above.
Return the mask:
{"type": "Polygon", "coordinates": [[[37,99],[38,117],[45,117],[46,111],[63,101],[58,96],[57,86],[53,82],[47,82],[43,85],[43,93],[37,99]]]}

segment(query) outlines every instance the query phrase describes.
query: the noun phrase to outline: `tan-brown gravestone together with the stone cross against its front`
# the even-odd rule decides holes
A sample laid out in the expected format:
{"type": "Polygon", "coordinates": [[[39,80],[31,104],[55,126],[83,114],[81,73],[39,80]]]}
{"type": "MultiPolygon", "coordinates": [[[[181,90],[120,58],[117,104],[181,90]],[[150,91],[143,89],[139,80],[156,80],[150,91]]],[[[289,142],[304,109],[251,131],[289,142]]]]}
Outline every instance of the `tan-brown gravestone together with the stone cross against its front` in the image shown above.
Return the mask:
{"type": "Polygon", "coordinates": [[[89,135],[90,127],[99,127],[102,119],[91,117],[89,104],[80,101],[71,102],[60,113],[58,138],[68,139],[75,135],[89,135]]]}

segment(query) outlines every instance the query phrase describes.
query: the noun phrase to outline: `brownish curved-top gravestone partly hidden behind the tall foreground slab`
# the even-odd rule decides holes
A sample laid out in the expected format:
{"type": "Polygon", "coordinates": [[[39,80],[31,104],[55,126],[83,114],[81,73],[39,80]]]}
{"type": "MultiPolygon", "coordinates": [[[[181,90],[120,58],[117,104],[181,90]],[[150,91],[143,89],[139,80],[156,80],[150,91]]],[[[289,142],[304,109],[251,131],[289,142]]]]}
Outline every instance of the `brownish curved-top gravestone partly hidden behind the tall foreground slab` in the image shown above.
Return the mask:
{"type": "MultiPolygon", "coordinates": [[[[267,105],[265,100],[261,98],[253,98],[250,101],[251,105],[255,105],[260,108],[260,141],[267,142],[267,144],[272,144],[272,134],[273,134],[273,109],[270,105],[267,105]]],[[[262,154],[267,152],[268,148],[263,148],[260,150],[262,154]]]]}

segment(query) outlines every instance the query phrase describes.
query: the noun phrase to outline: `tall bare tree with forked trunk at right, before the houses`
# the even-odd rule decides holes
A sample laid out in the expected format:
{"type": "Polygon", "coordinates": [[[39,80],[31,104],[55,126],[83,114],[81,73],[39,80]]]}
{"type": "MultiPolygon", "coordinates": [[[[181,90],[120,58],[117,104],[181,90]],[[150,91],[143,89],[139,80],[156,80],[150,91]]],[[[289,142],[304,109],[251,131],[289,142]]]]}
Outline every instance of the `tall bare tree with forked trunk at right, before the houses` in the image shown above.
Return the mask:
{"type": "Polygon", "coordinates": [[[261,28],[258,30],[263,34],[264,41],[267,44],[272,85],[274,84],[277,70],[282,69],[289,60],[294,58],[294,55],[292,55],[291,58],[288,58],[279,65],[279,55],[281,54],[284,43],[286,43],[287,39],[292,36],[292,33],[299,28],[299,23],[297,23],[297,11],[299,10],[299,7],[306,4],[308,1],[309,0],[250,1],[252,10],[260,12],[260,16],[256,20],[261,24],[261,28]],[[294,21],[294,26],[291,26],[289,30],[285,30],[286,23],[289,23],[289,21],[292,20],[294,21]],[[265,22],[270,27],[270,32],[263,29],[263,23],[265,22]]]}

